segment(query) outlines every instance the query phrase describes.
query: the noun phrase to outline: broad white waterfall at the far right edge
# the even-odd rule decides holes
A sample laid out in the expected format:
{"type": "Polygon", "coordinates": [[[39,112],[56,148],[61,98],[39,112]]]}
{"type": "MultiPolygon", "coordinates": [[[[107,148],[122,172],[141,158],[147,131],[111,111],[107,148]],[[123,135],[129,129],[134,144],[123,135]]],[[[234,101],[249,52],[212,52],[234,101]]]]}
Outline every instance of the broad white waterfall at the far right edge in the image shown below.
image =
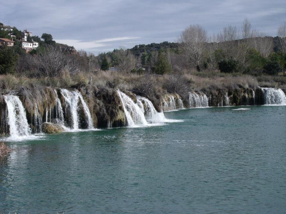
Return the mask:
{"type": "Polygon", "coordinates": [[[286,105],[286,96],[281,89],[276,88],[261,88],[264,94],[265,105],[286,105]]]}

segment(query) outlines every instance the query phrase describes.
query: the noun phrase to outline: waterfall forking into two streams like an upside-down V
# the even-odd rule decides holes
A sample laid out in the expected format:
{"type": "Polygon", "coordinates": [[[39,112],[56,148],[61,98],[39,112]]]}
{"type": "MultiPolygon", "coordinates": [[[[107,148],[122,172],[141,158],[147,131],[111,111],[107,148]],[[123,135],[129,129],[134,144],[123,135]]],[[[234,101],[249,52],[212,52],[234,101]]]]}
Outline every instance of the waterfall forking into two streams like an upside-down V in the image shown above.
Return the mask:
{"type": "Polygon", "coordinates": [[[79,129],[79,115],[78,115],[78,109],[79,109],[79,102],[81,102],[84,114],[87,118],[87,124],[88,129],[94,128],[92,118],[90,111],[86,105],[86,102],[83,100],[82,95],[79,91],[68,91],[67,89],[60,89],[60,93],[63,95],[63,98],[65,100],[66,108],[69,108],[69,111],[71,113],[72,118],[72,129],[78,130],[79,129]]]}

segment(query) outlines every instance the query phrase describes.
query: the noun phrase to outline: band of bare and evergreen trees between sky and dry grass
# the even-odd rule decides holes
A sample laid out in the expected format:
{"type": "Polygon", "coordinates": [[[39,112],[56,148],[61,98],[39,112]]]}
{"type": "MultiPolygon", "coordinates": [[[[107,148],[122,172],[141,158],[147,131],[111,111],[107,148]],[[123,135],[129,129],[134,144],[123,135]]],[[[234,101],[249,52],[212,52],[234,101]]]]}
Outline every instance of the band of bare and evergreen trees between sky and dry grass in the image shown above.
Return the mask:
{"type": "MultiPolygon", "coordinates": [[[[13,28],[13,35],[18,40],[21,32],[13,28]]],[[[9,37],[3,31],[1,36],[9,37]]],[[[184,29],[176,43],[122,47],[98,56],[83,50],[71,51],[73,47],[55,43],[51,34],[28,39],[40,44],[28,54],[19,41],[15,41],[14,47],[0,48],[0,74],[26,72],[53,77],[62,70],[90,73],[111,67],[122,72],[159,75],[185,68],[252,75],[285,75],[286,70],[286,22],[279,26],[274,38],[258,32],[246,18],[240,27],[229,25],[211,36],[195,24],[184,29]]]]}

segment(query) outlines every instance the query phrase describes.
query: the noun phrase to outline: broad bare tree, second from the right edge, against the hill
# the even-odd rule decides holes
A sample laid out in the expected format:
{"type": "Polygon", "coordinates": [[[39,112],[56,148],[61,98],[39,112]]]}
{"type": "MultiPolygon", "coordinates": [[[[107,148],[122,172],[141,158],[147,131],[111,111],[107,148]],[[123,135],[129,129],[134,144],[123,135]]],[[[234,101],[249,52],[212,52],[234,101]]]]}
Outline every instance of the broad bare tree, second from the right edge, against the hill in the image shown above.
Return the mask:
{"type": "Polygon", "coordinates": [[[273,38],[267,37],[265,34],[254,31],[253,38],[251,39],[251,47],[260,52],[263,57],[268,57],[273,51],[273,38]]]}

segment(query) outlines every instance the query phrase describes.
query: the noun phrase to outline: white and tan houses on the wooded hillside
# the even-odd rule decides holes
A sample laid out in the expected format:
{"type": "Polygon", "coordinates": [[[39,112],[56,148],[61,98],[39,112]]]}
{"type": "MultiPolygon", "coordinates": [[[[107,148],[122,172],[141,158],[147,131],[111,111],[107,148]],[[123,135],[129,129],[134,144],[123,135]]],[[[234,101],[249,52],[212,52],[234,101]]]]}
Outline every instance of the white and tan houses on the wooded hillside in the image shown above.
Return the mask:
{"type": "MultiPolygon", "coordinates": [[[[5,39],[5,38],[0,38],[0,46],[2,45],[7,45],[12,47],[14,45],[14,40],[15,40],[15,36],[12,34],[13,32],[13,27],[9,26],[9,25],[2,25],[0,26],[1,30],[5,30],[8,31],[9,35],[11,36],[12,40],[10,39],[5,39]]],[[[32,40],[32,42],[29,42],[27,40],[28,36],[32,36],[32,32],[27,31],[27,29],[25,29],[24,31],[22,31],[22,36],[21,36],[21,43],[22,43],[22,48],[26,50],[26,52],[31,51],[34,48],[37,48],[39,46],[38,42],[35,42],[32,40]]]]}

